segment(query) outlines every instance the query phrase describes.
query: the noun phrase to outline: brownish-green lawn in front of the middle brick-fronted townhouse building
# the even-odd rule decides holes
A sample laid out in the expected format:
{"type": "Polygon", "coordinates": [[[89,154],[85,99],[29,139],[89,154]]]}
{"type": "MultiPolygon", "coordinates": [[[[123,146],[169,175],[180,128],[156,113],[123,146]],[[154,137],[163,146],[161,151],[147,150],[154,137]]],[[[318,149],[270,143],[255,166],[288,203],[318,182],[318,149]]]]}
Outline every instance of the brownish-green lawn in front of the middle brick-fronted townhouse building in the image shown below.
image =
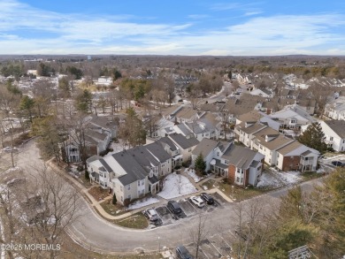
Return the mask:
{"type": "Polygon", "coordinates": [[[226,194],[226,196],[231,197],[235,202],[241,202],[269,191],[269,189],[253,187],[248,187],[246,189],[236,186],[232,187],[232,185],[223,182],[219,182],[219,190],[226,194]]]}

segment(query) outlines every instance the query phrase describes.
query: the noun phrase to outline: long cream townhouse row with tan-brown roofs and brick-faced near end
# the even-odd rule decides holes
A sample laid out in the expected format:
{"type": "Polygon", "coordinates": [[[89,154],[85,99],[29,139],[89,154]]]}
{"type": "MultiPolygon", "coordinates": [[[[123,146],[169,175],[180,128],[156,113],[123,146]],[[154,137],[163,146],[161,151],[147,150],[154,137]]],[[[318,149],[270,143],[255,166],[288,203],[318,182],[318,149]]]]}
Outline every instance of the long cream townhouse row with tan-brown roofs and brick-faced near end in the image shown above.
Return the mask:
{"type": "Polygon", "coordinates": [[[265,163],[281,171],[315,171],[319,152],[272,129],[265,122],[242,121],[235,126],[235,134],[249,149],[265,156],[265,163]]]}

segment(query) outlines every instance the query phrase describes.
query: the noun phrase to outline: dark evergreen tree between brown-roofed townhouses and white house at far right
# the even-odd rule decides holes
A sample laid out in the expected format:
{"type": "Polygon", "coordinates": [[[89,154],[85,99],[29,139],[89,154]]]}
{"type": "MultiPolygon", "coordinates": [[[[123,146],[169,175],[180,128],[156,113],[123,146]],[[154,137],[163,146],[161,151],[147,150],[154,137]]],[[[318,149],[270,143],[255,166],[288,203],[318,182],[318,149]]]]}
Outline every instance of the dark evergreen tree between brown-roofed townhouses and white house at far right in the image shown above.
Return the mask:
{"type": "Polygon", "coordinates": [[[325,134],[318,122],[312,123],[307,130],[298,138],[302,144],[311,149],[317,149],[321,154],[326,152],[325,134]]]}

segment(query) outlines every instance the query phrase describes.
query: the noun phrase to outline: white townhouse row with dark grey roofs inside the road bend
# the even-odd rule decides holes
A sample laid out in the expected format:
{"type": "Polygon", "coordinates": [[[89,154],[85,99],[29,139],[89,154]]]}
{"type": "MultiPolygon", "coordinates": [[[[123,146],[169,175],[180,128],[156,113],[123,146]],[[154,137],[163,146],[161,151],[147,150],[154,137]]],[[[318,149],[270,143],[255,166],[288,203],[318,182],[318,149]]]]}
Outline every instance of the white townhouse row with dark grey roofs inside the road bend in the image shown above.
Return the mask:
{"type": "Polygon", "coordinates": [[[156,194],[161,179],[176,165],[191,159],[199,141],[180,134],[108,156],[91,156],[87,167],[91,182],[115,194],[120,203],[156,194]]]}

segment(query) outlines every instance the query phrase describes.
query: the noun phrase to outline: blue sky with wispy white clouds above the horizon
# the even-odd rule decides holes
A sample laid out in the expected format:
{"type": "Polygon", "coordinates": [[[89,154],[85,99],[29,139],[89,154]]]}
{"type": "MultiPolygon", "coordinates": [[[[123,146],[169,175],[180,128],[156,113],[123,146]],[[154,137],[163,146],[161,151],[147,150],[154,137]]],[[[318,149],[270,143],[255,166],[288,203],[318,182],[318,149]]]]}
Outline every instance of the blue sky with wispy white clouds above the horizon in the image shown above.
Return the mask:
{"type": "Polygon", "coordinates": [[[0,0],[0,54],[345,55],[343,0],[0,0]]]}

